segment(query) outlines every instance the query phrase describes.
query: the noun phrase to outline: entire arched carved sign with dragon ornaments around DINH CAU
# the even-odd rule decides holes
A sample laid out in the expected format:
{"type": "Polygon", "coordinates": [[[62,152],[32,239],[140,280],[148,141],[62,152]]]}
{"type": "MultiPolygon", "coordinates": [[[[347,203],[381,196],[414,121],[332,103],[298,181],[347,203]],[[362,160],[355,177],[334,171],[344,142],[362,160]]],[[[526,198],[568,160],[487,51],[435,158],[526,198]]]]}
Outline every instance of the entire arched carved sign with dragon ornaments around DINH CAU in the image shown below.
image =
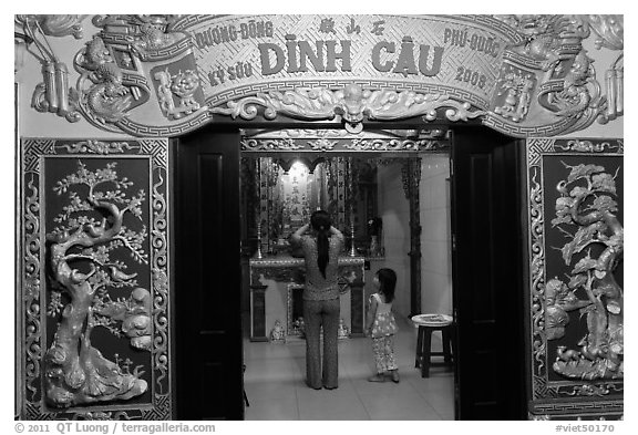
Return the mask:
{"type": "Polygon", "coordinates": [[[589,21],[96,15],[102,31],[75,56],[81,77],[65,116],[81,113],[101,128],[141,136],[178,135],[227,117],[282,116],[335,121],[351,132],[367,120],[475,118],[513,136],[552,136],[607,121],[582,45],[589,21]]]}

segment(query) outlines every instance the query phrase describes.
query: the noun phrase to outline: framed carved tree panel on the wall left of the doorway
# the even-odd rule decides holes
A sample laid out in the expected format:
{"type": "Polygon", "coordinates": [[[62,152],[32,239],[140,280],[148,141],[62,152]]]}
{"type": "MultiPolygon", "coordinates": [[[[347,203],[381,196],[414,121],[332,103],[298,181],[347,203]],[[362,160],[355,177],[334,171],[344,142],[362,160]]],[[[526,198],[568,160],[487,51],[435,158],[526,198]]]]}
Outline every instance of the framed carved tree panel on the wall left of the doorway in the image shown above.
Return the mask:
{"type": "Polygon", "coordinates": [[[165,139],[23,139],[20,417],[171,420],[165,139]]]}

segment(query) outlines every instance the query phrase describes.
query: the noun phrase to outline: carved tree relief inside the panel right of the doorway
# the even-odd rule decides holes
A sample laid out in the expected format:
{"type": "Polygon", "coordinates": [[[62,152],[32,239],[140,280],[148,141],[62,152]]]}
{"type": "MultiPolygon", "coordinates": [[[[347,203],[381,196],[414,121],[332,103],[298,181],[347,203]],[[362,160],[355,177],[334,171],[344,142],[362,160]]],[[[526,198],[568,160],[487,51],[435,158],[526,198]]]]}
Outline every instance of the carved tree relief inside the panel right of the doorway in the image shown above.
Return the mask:
{"type": "Polygon", "coordinates": [[[616,176],[597,165],[565,166],[570,173],[556,186],[552,226],[569,239],[560,251],[575,266],[568,283],[556,277],[545,286],[545,328],[547,340],[563,338],[568,312],[579,310],[588,331],[578,350],[557,348],[553,369],[569,379],[622,379],[624,291],[614,271],[622,260],[624,229],[616,216],[616,176]]]}

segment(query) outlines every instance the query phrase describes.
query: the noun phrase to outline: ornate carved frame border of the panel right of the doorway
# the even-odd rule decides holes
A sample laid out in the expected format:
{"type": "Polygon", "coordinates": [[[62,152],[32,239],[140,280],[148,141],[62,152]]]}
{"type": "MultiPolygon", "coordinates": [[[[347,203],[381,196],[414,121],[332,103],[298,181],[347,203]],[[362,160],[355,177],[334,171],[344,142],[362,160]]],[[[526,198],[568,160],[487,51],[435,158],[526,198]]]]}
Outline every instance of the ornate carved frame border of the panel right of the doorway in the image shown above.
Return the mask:
{"type": "MultiPolygon", "coordinates": [[[[603,413],[610,417],[624,414],[624,400],[605,396],[622,392],[622,380],[549,381],[552,362],[547,356],[545,330],[546,235],[543,157],[618,156],[622,157],[624,139],[531,138],[526,146],[527,218],[529,261],[529,361],[532,420],[550,420],[565,415],[603,413]]],[[[603,418],[604,420],[604,418],[603,418]]]]}

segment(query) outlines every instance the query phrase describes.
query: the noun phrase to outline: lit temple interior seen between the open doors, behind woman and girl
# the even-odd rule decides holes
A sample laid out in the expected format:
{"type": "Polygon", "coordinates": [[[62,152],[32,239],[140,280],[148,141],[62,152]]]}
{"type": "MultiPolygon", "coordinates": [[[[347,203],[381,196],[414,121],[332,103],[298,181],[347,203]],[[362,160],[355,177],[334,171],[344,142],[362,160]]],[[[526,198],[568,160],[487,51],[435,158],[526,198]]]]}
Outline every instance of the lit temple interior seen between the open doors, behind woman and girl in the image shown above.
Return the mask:
{"type": "MultiPolygon", "coordinates": [[[[240,168],[246,420],[454,420],[453,363],[432,356],[441,364],[422,376],[412,321],[453,317],[447,131],[244,131],[240,168]],[[346,247],[339,389],[317,392],[305,384],[303,266],[289,238],[319,208],[346,247]],[[381,268],[399,277],[398,384],[367,381],[366,309],[381,268]]],[[[440,331],[431,349],[442,351],[440,331]]]]}

